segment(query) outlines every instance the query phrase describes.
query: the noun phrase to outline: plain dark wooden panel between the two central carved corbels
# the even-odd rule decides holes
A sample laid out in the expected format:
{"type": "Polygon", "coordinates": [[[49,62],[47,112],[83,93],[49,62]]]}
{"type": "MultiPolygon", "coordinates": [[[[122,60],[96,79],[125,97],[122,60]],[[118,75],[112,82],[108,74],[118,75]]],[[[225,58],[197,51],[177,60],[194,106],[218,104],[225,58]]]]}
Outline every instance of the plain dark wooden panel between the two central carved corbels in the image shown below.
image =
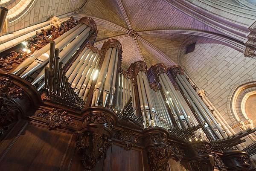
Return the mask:
{"type": "Polygon", "coordinates": [[[111,156],[107,152],[104,171],[146,171],[143,166],[143,151],[140,149],[126,150],[118,145],[111,146],[111,156]]]}

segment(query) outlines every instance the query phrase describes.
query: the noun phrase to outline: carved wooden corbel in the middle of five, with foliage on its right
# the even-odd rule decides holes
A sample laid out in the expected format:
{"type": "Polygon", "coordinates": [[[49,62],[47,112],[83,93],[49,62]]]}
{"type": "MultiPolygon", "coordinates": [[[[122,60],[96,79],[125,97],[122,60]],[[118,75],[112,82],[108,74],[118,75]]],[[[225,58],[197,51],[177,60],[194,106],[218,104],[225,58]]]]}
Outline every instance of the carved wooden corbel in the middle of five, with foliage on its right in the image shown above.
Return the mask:
{"type": "Polygon", "coordinates": [[[176,145],[168,144],[169,133],[160,127],[149,127],[143,130],[144,143],[148,153],[148,162],[152,171],[166,171],[171,157],[180,160],[183,156],[176,145]],[[177,152],[178,151],[178,152],[177,152]],[[175,154],[180,154],[176,158],[175,154]],[[180,158],[180,159],[178,159],[180,158]]]}

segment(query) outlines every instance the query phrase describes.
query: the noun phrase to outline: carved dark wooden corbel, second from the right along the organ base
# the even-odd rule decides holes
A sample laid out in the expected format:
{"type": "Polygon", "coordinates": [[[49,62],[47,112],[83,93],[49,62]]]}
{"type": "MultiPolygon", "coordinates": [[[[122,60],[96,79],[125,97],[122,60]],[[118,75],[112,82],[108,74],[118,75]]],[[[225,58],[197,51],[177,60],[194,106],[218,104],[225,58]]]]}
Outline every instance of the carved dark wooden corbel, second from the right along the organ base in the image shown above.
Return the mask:
{"type": "Polygon", "coordinates": [[[193,171],[213,171],[215,159],[209,142],[193,142],[189,145],[190,164],[193,171]]]}

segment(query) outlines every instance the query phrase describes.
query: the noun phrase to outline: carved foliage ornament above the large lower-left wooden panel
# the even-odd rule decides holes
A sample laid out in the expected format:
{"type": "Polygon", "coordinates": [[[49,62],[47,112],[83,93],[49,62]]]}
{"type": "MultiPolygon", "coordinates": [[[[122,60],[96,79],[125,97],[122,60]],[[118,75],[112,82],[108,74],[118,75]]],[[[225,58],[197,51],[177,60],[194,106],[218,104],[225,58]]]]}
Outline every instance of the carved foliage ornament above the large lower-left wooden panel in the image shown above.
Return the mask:
{"type": "Polygon", "coordinates": [[[66,116],[67,112],[62,109],[52,108],[52,111],[44,110],[36,113],[35,116],[44,119],[49,126],[49,130],[61,128],[63,125],[75,125],[72,119],[66,116]]]}

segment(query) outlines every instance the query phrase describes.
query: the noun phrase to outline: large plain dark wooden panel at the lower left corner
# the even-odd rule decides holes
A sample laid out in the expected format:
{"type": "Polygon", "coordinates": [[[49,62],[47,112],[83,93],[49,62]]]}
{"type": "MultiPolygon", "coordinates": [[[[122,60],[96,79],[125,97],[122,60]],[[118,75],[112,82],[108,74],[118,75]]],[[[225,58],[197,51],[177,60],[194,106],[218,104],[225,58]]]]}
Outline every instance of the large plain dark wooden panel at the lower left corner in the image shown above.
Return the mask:
{"type": "Polygon", "coordinates": [[[28,125],[16,138],[0,161],[1,171],[58,171],[71,134],[28,125]]]}

